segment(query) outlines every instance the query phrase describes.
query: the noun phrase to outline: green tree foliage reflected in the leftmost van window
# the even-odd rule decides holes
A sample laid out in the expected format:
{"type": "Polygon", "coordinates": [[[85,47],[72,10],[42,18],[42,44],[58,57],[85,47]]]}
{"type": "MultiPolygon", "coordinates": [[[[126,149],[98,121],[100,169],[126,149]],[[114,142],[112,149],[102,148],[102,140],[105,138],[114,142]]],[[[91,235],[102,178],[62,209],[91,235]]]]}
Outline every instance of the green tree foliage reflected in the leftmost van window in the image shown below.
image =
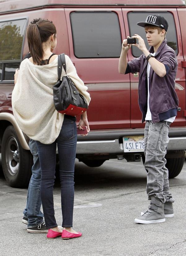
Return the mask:
{"type": "Polygon", "coordinates": [[[0,60],[20,60],[23,36],[17,25],[0,27],[0,60]]]}

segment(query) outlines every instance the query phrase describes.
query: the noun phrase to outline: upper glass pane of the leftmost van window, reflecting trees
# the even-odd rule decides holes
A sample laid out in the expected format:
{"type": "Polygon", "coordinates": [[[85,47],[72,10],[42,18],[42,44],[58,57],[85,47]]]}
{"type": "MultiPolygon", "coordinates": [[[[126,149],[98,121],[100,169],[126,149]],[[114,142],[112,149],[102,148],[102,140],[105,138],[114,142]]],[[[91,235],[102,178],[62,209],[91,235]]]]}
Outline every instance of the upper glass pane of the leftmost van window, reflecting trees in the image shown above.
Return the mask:
{"type": "Polygon", "coordinates": [[[0,22],[0,61],[21,59],[26,19],[0,22]]]}

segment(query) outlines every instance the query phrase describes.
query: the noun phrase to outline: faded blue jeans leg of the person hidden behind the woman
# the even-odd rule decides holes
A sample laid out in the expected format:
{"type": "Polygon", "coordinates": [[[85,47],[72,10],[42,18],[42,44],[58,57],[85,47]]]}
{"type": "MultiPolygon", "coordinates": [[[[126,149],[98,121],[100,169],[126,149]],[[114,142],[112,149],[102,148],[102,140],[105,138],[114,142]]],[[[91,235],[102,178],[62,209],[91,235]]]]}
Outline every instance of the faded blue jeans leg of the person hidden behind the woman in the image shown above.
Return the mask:
{"type": "Polygon", "coordinates": [[[41,168],[39,163],[38,150],[36,142],[30,140],[30,151],[33,154],[32,176],[27,193],[27,204],[24,209],[24,216],[28,218],[28,227],[36,227],[43,222],[43,213],[41,212],[41,168]]]}

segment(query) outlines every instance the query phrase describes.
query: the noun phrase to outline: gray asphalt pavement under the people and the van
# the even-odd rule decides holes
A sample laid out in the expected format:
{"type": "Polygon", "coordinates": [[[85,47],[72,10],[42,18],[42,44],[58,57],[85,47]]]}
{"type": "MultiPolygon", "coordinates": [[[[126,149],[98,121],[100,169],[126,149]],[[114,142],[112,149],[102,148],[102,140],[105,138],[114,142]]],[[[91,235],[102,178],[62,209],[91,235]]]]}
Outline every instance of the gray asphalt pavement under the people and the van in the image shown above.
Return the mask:
{"type": "MultiPolygon", "coordinates": [[[[142,162],[108,160],[101,167],[75,165],[73,228],[83,236],[71,240],[30,234],[21,222],[27,189],[9,187],[0,177],[1,256],[185,256],[186,162],[170,179],[174,218],[158,224],[135,224],[146,209],[146,171],[142,162]]],[[[55,217],[61,225],[60,183],[54,187],[55,217]]]]}

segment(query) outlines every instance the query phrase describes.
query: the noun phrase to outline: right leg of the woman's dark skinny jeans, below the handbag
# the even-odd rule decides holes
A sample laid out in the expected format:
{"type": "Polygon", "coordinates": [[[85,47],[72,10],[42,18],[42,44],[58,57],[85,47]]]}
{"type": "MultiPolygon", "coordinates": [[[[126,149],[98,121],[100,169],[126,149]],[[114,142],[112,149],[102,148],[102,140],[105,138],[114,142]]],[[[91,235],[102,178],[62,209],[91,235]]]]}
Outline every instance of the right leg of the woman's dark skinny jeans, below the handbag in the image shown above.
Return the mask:
{"type": "Polygon", "coordinates": [[[73,226],[74,164],[77,145],[76,122],[64,119],[57,138],[60,159],[62,227],[73,226]]]}

